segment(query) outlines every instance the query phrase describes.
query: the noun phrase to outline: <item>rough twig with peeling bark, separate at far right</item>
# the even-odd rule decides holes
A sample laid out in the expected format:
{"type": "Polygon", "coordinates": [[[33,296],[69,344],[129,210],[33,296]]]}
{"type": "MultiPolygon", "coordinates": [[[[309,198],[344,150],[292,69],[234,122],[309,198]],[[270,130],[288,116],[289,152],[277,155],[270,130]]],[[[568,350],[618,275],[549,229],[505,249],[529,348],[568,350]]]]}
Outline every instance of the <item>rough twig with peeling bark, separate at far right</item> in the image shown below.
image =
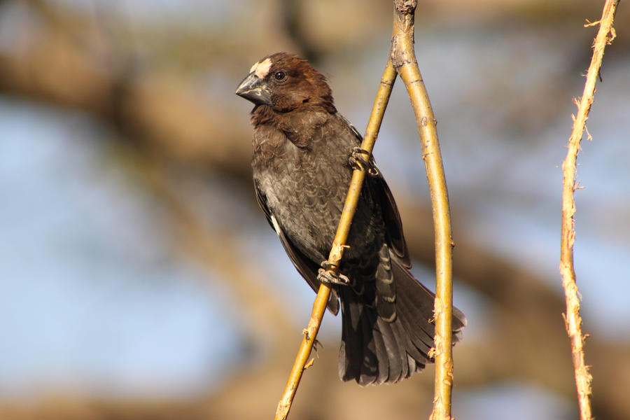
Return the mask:
{"type": "MultiPolygon", "coordinates": [[[[571,342],[571,353],[573,356],[573,367],[575,369],[575,385],[577,386],[577,400],[580,405],[580,419],[590,420],[591,402],[591,375],[587,365],[584,364],[584,336],[582,335],[582,318],[580,318],[580,299],[577,284],[575,283],[575,269],[573,267],[573,242],[575,241],[575,230],[573,227],[573,214],[575,214],[575,200],[573,192],[577,189],[576,183],[576,161],[577,153],[580,151],[580,141],[584,134],[584,127],[588,118],[588,113],[593,103],[595,83],[601,66],[601,59],[606,43],[610,43],[615,37],[615,30],[612,29],[612,20],[615,18],[615,10],[619,0],[607,0],[604,7],[599,30],[595,37],[593,57],[587,73],[587,80],[584,83],[584,92],[577,109],[577,117],[573,118],[573,131],[568,144],[566,159],[562,164],[562,225],[560,244],[560,273],[562,285],[566,296],[566,330],[571,342]],[[610,34],[610,38],[608,37],[610,34]]],[[[588,22],[584,26],[593,26],[588,22]]]]}

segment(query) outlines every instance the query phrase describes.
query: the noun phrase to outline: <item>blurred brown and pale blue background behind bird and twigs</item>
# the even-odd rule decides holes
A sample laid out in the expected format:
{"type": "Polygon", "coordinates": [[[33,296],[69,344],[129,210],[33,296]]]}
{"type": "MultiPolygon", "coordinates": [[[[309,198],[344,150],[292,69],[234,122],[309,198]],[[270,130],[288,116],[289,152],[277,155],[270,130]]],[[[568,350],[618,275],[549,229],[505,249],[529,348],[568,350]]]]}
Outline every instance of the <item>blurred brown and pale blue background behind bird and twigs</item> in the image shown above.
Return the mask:
{"type": "MultiPolygon", "coordinates": [[[[560,165],[603,1],[427,0],[416,54],[451,197],[457,419],[575,419],[558,272],[560,165]]],[[[621,3],[578,167],[575,265],[597,419],[629,419],[630,13],[621,3]]],[[[0,1],[0,418],[270,418],[310,288],[258,211],[253,62],[325,73],[363,131],[390,1],[0,1]]],[[[433,231],[412,110],[395,91],[374,152],[414,273],[433,231]]],[[[337,377],[327,314],[293,419],[427,418],[433,367],[337,377]]]]}

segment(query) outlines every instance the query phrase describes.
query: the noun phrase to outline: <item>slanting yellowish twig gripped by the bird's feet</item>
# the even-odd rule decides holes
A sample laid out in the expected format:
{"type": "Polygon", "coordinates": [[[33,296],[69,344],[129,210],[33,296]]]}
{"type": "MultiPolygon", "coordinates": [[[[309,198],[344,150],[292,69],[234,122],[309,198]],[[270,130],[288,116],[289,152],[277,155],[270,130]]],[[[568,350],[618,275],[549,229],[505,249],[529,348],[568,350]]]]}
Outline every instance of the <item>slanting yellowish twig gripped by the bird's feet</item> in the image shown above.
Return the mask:
{"type": "MultiPolygon", "coordinates": [[[[381,78],[381,84],[377,92],[377,97],[374,100],[374,106],[372,107],[372,113],[370,114],[370,120],[367,122],[367,128],[365,129],[365,136],[363,137],[363,143],[361,148],[368,153],[372,153],[374,148],[374,142],[376,141],[377,134],[381,128],[381,121],[385,113],[387,102],[391,94],[391,89],[396,77],[396,73],[391,65],[391,62],[387,62],[383,77],[381,78]]],[[[339,262],[342,259],[343,251],[345,248],[346,239],[348,238],[348,232],[350,230],[350,224],[356,210],[358,198],[363,186],[363,180],[365,179],[365,171],[363,169],[356,169],[352,174],[350,181],[350,187],[348,189],[348,195],[346,195],[346,202],[342,211],[339,225],[337,228],[337,235],[332,242],[332,249],[330,250],[330,256],[328,262],[331,264],[330,271],[337,273],[339,262]]],[[[304,372],[304,364],[307,363],[307,358],[311,353],[315,337],[321,324],[321,319],[326,309],[326,303],[328,302],[328,296],[330,295],[330,287],[322,283],[319,287],[317,297],[313,304],[313,311],[311,313],[311,319],[306,330],[304,330],[304,338],[300,345],[300,350],[297,352],[293,369],[291,370],[289,379],[284,388],[284,393],[280,402],[278,402],[278,408],[276,409],[276,420],[284,420],[288,416],[291,402],[297,391],[297,385],[300,384],[302,378],[302,372],[304,372]]]]}

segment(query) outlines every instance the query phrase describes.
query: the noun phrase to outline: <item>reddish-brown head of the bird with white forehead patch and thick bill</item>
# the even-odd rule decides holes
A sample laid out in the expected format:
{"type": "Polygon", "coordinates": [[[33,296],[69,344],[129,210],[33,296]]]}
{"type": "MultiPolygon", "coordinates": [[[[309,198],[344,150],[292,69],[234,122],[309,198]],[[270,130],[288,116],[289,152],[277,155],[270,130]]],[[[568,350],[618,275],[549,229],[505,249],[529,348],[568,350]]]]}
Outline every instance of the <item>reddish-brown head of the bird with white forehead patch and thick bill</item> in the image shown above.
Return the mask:
{"type": "Polygon", "coordinates": [[[236,94],[279,113],[312,106],[335,110],[325,76],[305,59],[286,52],[267,55],[251,66],[236,94]]]}

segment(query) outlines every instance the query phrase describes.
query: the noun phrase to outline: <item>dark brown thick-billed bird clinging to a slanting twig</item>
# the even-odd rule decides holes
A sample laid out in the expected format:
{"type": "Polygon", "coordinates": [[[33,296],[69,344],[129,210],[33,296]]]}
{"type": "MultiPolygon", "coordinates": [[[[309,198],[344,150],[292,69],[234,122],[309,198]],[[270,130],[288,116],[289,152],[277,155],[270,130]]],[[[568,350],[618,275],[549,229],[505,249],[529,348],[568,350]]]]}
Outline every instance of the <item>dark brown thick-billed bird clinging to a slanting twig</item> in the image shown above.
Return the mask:
{"type": "MultiPolygon", "coordinates": [[[[297,271],[327,307],[342,312],[339,377],[361,386],[393,383],[433,362],[435,295],[412,264],[398,207],[362,137],[335,107],[322,73],[287,52],[262,57],[235,92],[248,99],[252,173],[260,209],[297,271]],[[368,170],[337,275],[328,253],[353,169],[368,170]]],[[[466,320],[453,308],[454,342],[466,320]]]]}

